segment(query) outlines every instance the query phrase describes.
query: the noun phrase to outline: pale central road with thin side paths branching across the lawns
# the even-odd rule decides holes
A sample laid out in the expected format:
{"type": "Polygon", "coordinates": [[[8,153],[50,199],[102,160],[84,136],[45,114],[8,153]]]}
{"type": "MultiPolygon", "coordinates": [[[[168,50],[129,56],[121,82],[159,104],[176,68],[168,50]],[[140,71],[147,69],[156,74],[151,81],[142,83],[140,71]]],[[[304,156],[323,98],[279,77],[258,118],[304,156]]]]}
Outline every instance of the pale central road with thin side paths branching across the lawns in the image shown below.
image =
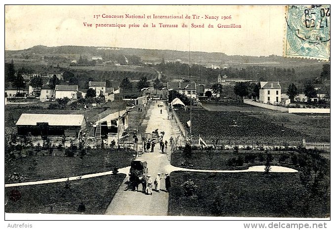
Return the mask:
{"type": "MultiPolygon", "coordinates": [[[[152,132],[158,128],[158,131],[164,131],[164,141],[168,140],[171,136],[176,138],[180,135],[179,129],[176,127],[174,121],[168,120],[168,108],[158,108],[158,103],[153,103],[149,108],[147,119],[147,129],[146,132],[152,132]],[[162,114],[160,113],[162,109],[162,114]]],[[[170,148],[168,146],[168,153],[170,153],[170,148]]],[[[156,145],[154,153],[144,153],[140,158],[143,158],[148,163],[149,174],[151,175],[153,181],[156,178],[158,172],[161,173],[161,190],[165,190],[165,180],[164,174],[170,173],[172,171],[192,171],[192,172],[218,172],[218,173],[229,173],[229,172],[263,172],[264,166],[253,166],[246,170],[198,170],[198,169],[186,169],[172,166],[168,160],[167,154],[160,153],[159,145],[156,145]]],[[[169,154],[168,154],[169,155],[169,154]]],[[[128,174],[130,166],[119,169],[119,173],[128,174]]],[[[297,172],[294,169],[271,166],[271,172],[297,172]]],[[[83,176],[69,177],[69,180],[80,180],[91,177],[98,177],[103,175],[112,174],[112,171],[94,173],[83,176]]],[[[68,178],[59,178],[43,181],[33,181],[33,182],[23,182],[15,184],[6,184],[5,187],[17,187],[17,186],[27,186],[27,185],[38,185],[47,183],[64,182],[68,178]]],[[[119,190],[116,192],[113,200],[106,210],[107,215],[155,215],[155,216],[167,216],[168,215],[168,193],[164,191],[155,192],[153,195],[145,195],[142,192],[133,192],[126,189],[127,178],[124,183],[120,186],[119,190]]],[[[142,187],[139,185],[139,190],[142,187]]]]}

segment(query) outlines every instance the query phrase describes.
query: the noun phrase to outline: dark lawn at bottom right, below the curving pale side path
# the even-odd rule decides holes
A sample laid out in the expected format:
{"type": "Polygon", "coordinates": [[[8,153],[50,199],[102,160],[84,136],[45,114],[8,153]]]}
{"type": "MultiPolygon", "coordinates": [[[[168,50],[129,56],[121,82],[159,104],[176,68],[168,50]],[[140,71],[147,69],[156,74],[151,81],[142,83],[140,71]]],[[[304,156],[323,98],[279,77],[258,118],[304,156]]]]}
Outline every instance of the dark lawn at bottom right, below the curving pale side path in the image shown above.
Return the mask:
{"type": "Polygon", "coordinates": [[[168,215],[325,218],[329,198],[314,196],[298,173],[172,172],[168,215]],[[181,185],[197,186],[185,196],[181,185]]]}

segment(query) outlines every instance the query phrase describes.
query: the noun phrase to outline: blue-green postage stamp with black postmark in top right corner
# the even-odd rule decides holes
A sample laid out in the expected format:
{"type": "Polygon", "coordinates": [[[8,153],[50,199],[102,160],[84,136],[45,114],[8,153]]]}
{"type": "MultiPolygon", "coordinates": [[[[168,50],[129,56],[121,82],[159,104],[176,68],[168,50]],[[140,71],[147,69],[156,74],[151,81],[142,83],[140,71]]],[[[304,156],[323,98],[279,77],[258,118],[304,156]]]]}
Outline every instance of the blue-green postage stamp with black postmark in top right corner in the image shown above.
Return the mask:
{"type": "Polygon", "coordinates": [[[330,5],[288,5],[284,56],[329,61],[330,16],[330,5]]]}

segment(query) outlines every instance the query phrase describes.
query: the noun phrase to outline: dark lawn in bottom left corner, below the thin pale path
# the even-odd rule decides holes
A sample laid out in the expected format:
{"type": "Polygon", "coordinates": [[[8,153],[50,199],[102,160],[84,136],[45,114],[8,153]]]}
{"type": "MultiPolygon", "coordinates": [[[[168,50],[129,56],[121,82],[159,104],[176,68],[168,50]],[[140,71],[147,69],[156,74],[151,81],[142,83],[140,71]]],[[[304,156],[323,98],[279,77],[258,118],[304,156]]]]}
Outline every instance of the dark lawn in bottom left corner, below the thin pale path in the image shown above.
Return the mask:
{"type": "Polygon", "coordinates": [[[84,214],[104,214],[115,193],[125,179],[124,174],[106,175],[77,181],[5,188],[6,213],[80,214],[78,207],[84,202],[84,214]],[[13,190],[21,197],[10,199],[13,190]]]}

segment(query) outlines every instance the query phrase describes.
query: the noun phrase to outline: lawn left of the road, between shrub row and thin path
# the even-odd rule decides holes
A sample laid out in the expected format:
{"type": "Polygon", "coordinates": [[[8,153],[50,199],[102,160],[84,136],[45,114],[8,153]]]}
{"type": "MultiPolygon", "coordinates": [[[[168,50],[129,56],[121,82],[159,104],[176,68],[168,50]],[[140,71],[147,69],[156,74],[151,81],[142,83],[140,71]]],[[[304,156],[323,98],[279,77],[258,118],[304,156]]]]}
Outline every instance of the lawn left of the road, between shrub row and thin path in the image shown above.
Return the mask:
{"type": "Polygon", "coordinates": [[[88,150],[83,158],[68,157],[63,151],[54,150],[55,155],[46,153],[16,158],[5,164],[5,183],[14,172],[26,177],[25,181],[80,176],[84,174],[111,171],[114,167],[130,166],[133,151],[88,150]]]}

